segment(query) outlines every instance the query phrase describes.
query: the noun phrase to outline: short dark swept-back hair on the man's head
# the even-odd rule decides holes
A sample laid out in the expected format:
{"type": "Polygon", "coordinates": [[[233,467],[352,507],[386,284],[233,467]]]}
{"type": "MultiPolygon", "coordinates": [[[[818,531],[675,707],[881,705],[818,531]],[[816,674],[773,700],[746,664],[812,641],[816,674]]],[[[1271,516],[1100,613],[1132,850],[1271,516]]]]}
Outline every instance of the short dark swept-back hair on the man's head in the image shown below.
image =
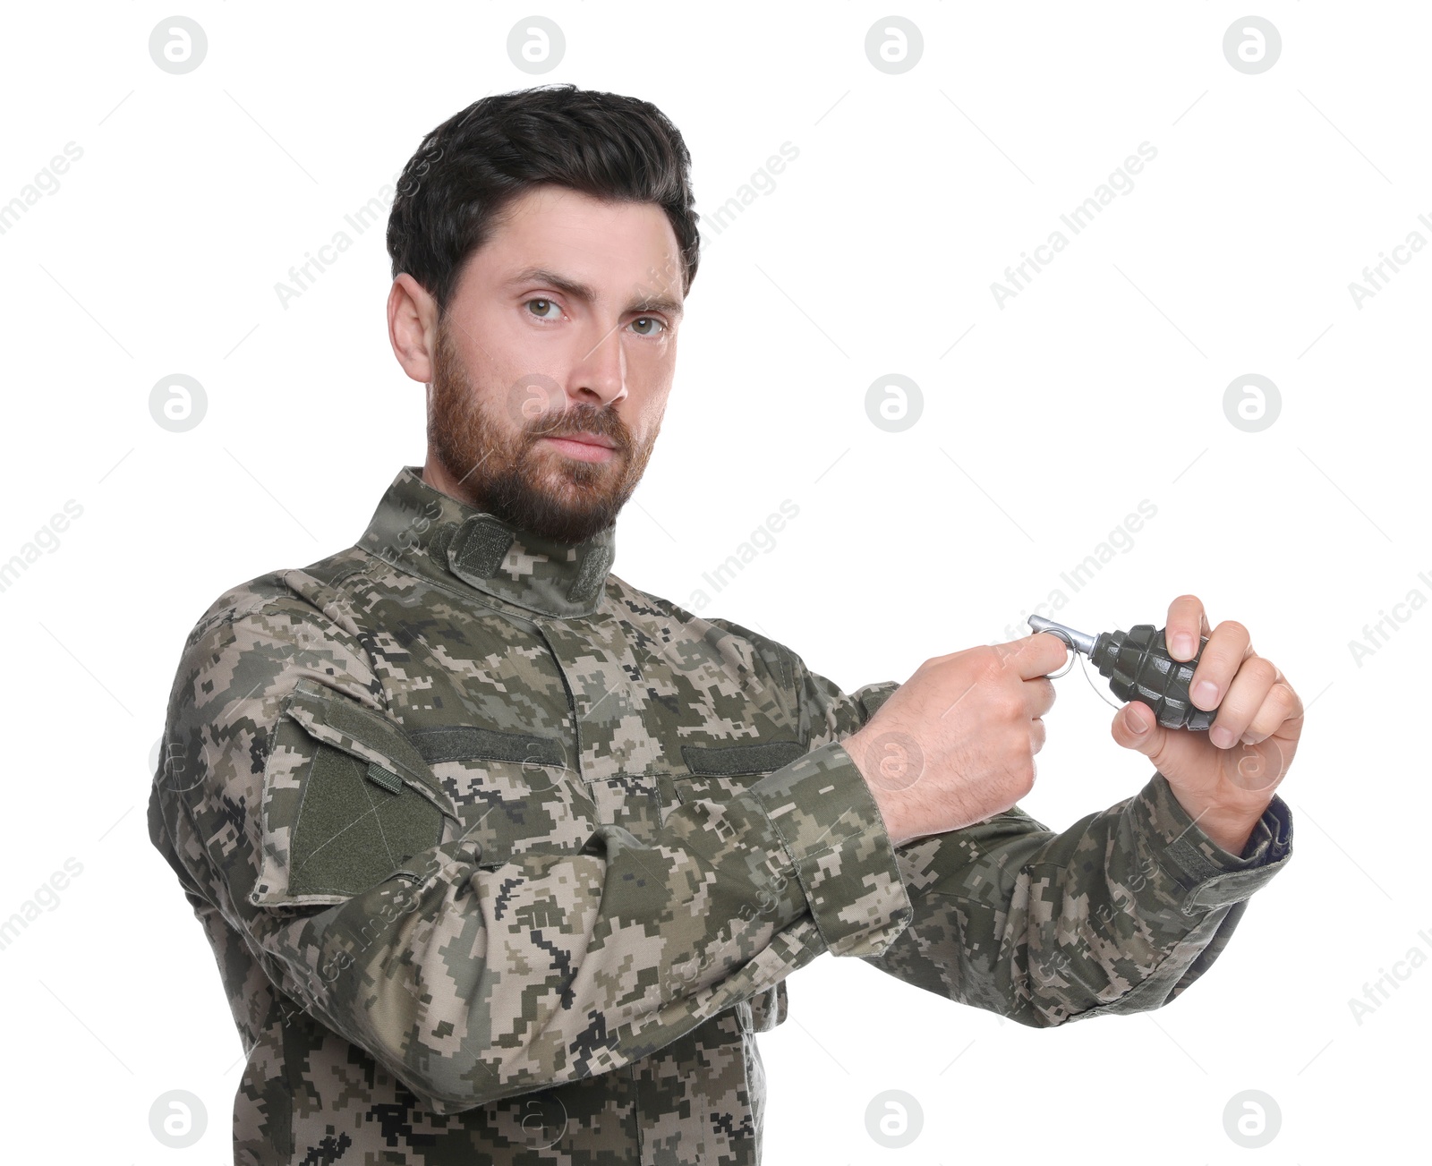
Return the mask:
{"type": "Polygon", "coordinates": [[[404,166],[388,215],[392,275],[408,272],[442,315],[464,259],[507,205],[556,183],[659,203],[682,249],[684,295],[700,251],[690,165],[680,132],[650,102],[570,83],[483,97],[428,133],[404,166]]]}

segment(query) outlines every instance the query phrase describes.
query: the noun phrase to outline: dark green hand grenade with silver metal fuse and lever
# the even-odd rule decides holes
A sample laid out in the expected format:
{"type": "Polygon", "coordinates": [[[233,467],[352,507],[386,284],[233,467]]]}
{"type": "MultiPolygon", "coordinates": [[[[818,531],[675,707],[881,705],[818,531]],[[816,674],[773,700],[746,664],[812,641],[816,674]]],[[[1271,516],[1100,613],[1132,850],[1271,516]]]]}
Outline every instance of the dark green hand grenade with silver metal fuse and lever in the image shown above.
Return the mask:
{"type": "Polygon", "coordinates": [[[1100,632],[1090,636],[1042,616],[1030,616],[1030,627],[1058,636],[1073,652],[1093,662],[1120,700],[1141,700],[1154,710],[1166,729],[1207,731],[1217,709],[1199,709],[1189,699],[1193,669],[1203,655],[1207,636],[1199,637],[1199,652],[1191,660],[1176,660],[1164,643],[1164,629],[1137,623],[1127,632],[1100,632]]]}

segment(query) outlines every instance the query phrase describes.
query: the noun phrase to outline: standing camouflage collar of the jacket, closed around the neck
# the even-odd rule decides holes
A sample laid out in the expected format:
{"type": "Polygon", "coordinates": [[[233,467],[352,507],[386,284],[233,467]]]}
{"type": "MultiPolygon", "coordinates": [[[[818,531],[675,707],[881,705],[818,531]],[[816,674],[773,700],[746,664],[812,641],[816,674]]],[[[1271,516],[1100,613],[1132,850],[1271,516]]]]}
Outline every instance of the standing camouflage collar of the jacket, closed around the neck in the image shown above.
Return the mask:
{"type": "Polygon", "coordinates": [[[404,466],[358,543],[414,574],[461,580],[507,603],[548,616],[590,616],[616,559],[616,526],[581,543],[518,530],[458,501],[404,466]]]}

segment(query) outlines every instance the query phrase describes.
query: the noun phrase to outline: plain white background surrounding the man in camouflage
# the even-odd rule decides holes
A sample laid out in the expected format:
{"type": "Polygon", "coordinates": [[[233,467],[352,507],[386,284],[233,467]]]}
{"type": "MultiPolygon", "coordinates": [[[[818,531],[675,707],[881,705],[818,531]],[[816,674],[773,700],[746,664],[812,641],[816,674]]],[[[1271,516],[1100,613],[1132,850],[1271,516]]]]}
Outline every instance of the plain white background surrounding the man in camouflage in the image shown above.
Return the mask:
{"type": "MultiPolygon", "coordinates": [[[[0,235],[0,559],[83,507],[0,593],[0,917],[66,858],[83,867],[0,951],[7,1160],[229,1160],[241,1047],[147,838],[150,748],[205,607],[352,544],[424,454],[422,388],[385,335],[382,231],[286,308],[274,285],[428,129],[488,92],[567,80],[660,106],[703,215],[799,149],[709,232],[617,574],[684,606],[789,498],[799,517],[705,613],[848,690],[1018,635],[1063,587],[1060,617],[1085,630],[1161,626],[1193,592],[1309,705],[1282,788],[1295,857],[1181,998],[1032,1030],[825,957],[760,1037],[768,1160],[1425,1157],[1432,967],[1360,1024],[1349,1006],[1411,948],[1432,953],[1432,610],[1360,665],[1349,649],[1409,590],[1432,597],[1432,254],[1360,307],[1349,292],[1411,231],[1432,239],[1421,6],[1267,3],[1282,56],[1256,76],[1223,54],[1247,14],[1226,3],[909,3],[895,11],[924,54],[902,74],[868,60],[889,10],[863,3],[196,3],[179,11],[209,49],[182,76],[147,49],[173,11],[9,6],[0,47],[0,201],[83,149],[0,235]],[[543,76],[507,54],[533,11],[566,34],[543,76]],[[1001,308],[991,282],[1141,142],[1157,158],[1134,189],[1001,308]],[[208,394],[182,434],[147,405],[173,372],[208,394]],[[904,433],[865,413],[891,372],[924,395],[904,433]],[[1223,410],[1249,372],[1282,394],[1259,433],[1223,410]],[[1133,549],[1063,586],[1143,498],[1157,516],[1133,549]],[[208,1110],[189,1150],[149,1132],[170,1089],[208,1110]],[[904,1150],[866,1133],[888,1089],[924,1112],[904,1150]],[[1259,1150],[1224,1133],[1246,1089],[1282,1114],[1259,1150]]],[[[1078,669],[1057,685],[1024,806],[1063,829],[1150,766],[1113,743],[1078,669]]]]}

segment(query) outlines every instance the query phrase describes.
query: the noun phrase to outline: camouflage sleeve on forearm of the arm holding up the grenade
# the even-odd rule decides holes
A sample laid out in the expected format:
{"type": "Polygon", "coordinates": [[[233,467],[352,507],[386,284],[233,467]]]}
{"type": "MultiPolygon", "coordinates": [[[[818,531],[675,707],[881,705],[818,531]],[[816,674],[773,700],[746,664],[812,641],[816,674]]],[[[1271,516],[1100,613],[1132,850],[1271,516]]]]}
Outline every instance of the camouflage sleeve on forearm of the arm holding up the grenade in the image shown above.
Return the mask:
{"type": "Polygon", "coordinates": [[[1060,834],[1015,808],[898,851],[915,915],[869,963],[1031,1026],[1156,1008],[1211,965],[1289,852],[1282,801],[1233,858],[1157,775],[1060,834]]]}

